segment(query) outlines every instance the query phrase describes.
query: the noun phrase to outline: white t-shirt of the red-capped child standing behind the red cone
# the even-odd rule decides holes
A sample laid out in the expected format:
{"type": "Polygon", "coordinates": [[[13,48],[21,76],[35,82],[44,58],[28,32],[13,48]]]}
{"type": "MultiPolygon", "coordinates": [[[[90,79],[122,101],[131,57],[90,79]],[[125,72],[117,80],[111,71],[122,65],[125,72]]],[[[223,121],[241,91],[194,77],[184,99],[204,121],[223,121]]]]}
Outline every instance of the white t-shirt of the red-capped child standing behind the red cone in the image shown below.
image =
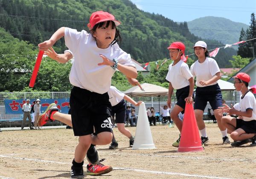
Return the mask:
{"type": "Polygon", "coordinates": [[[172,84],[172,87],[175,90],[178,90],[180,88],[189,86],[188,80],[191,77],[193,77],[193,75],[189,71],[188,64],[180,60],[174,66],[172,66],[172,64],[169,65],[169,71],[166,75],[166,80],[172,84]]]}

